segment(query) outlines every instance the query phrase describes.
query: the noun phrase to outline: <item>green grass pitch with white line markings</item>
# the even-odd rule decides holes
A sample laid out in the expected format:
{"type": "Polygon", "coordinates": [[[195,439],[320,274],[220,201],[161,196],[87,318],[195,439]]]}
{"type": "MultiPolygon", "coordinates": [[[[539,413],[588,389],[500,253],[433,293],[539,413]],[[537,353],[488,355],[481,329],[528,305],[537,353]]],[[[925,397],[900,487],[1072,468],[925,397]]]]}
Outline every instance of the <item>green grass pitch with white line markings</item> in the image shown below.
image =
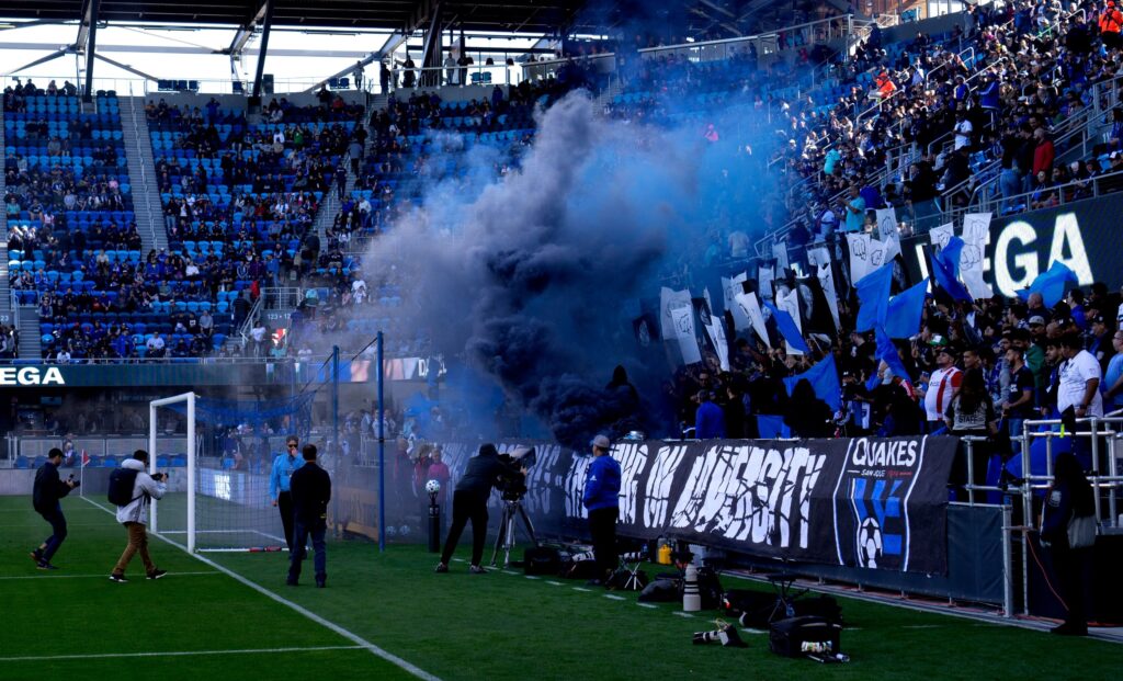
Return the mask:
{"type": "Polygon", "coordinates": [[[694,646],[691,634],[712,629],[714,615],[683,617],[565,580],[471,575],[464,562],[435,574],[423,547],[380,555],[366,542],[329,543],[323,590],[311,588],[311,565],[304,585],[285,587],[285,554],[207,554],[208,564],[158,539],[153,557],[171,574],[140,579],[136,559],[136,579],[117,584],[108,574],[124,529],[90,501],[63,506],[70,537],[62,569],[47,573],[27,552],[48,526],[27,497],[0,498],[0,679],[409,678],[384,659],[396,657],[439,679],[1088,680],[1119,678],[1123,661],[1114,644],[852,599],[841,601],[849,664],[777,657],[761,634],[746,633],[745,650],[694,646]]]}

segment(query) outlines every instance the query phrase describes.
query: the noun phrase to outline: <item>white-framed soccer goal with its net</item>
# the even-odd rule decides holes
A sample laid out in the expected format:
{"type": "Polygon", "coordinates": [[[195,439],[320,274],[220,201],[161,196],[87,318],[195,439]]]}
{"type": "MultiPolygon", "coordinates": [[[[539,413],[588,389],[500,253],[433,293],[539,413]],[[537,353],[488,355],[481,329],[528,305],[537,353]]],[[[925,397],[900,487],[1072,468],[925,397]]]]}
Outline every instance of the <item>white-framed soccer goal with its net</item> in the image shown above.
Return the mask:
{"type": "Polygon", "coordinates": [[[189,552],[285,551],[270,473],[289,436],[303,444],[311,396],[238,402],[193,393],[149,403],[153,471],[168,472],[168,493],[153,505],[152,529],[189,552]],[[183,433],[183,452],[157,451],[157,435],[183,433]]]}

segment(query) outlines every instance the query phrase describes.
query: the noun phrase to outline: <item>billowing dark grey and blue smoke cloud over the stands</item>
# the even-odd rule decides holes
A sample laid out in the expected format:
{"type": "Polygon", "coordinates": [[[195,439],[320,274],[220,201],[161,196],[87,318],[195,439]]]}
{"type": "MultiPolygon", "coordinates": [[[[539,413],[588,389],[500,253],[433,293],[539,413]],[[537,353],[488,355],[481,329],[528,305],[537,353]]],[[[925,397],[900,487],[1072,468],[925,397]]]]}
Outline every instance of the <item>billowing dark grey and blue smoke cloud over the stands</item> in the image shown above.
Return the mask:
{"type": "Polygon", "coordinates": [[[377,284],[393,267],[410,333],[583,448],[628,409],[604,388],[614,365],[648,394],[667,376],[634,356],[624,301],[657,294],[659,272],[704,238],[718,156],[700,130],[609,120],[572,93],[539,112],[519,170],[478,192],[429,188],[364,271],[377,284]]]}

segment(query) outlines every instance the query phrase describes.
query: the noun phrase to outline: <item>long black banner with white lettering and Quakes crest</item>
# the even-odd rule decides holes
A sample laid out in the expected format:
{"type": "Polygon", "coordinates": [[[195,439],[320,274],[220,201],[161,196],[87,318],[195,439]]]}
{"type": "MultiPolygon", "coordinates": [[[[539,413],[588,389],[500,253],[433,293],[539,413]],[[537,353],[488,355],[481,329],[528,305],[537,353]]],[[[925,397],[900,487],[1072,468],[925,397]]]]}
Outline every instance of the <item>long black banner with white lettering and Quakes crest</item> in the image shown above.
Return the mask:
{"type": "MultiPolygon", "coordinates": [[[[547,535],[585,536],[591,455],[536,446],[523,507],[547,535]]],[[[784,560],[947,572],[952,437],[619,442],[619,533],[784,560]]],[[[449,444],[454,480],[475,447],[449,444]]],[[[494,502],[497,503],[497,496],[494,502]]]]}

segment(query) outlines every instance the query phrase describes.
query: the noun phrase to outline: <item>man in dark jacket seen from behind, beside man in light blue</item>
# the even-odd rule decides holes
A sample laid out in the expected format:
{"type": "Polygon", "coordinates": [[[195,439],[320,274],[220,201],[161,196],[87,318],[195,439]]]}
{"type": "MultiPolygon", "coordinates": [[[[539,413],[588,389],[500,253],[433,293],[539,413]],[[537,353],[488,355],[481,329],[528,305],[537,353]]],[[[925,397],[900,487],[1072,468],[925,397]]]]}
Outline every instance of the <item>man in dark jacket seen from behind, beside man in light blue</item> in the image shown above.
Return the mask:
{"type": "Polygon", "coordinates": [[[292,494],[294,548],[289,555],[287,584],[295,587],[300,582],[300,568],[308,553],[308,535],[311,534],[312,548],[316,551],[312,563],[316,569],[316,585],[322,589],[328,580],[328,546],[323,535],[328,529],[331,478],[316,463],[316,445],[304,445],[301,453],[304,465],[293,471],[289,484],[292,494]]]}

